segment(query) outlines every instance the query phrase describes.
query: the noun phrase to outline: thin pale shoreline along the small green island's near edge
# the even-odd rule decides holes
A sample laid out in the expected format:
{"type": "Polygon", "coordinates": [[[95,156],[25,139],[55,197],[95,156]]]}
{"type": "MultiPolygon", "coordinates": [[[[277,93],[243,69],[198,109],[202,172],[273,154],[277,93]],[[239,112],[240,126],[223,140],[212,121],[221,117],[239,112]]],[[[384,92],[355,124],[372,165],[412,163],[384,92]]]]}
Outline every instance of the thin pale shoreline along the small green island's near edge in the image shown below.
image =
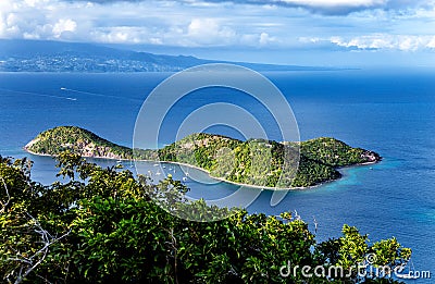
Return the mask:
{"type": "MultiPolygon", "coordinates": [[[[23,147],[23,149],[24,149],[26,152],[28,152],[28,153],[30,153],[30,155],[34,155],[34,156],[51,157],[51,158],[54,158],[54,157],[55,157],[55,156],[49,155],[49,153],[37,153],[37,152],[34,152],[34,151],[27,149],[27,145],[26,145],[25,147],[23,147]]],[[[341,177],[339,177],[339,178],[336,178],[336,180],[330,180],[330,181],[325,181],[325,182],[322,182],[322,183],[319,183],[319,184],[315,184],[315,185],[311,185],[311,186],[306,186],[306,187],[303,187],[303,186],[301,186],[301,187],[271,187],[271,186],[250,185],[250,184],[243,184],[243,183],[236,183],[236,182],[227,181],[227,180],[225,180],[225,178],[223,178],[223,177],[212,176],[212,175],[210,174],[209,171],[207,171],[207,170],[204,170],[204,169],[202,169],[202,168],[199,168],[199,166],[196,166],[196,165],[191,165],[191,164],[188,164],[188,163],[183,163],[183,162],[156,161],[156,160],[135,160],[135,159],[116,159],[116,158],[100,157],[100,156],[94,156],[94,157],[90,157],[90,156],[82,156],[82,158],[85,158],[85,159],[86,159],[86,158],[102,159],[102,160],[111,160],[111,161],[112,161],[112,160],[113,160],[113,161],[116,160],[116,161],[134,161],[134,162],[171,163],[171,164],[177,164],[177,165],[185,165],[185,166],[187,166],[187,168],[195,169],[195,170],[201,171],[201,172],[203,172],[203,173],[207,173],[211,178],[216,180],[216,181],[220,181],[220,182],[224,182],[224,183],[228,183],[228,184],[233,184],[233,185],[238,185],[238,186],[244,186],[244,187],[250,187],[250,188],[254,188],[254,189],[271,190],[271,192],[278,192],[278,190],[283,190],[283,192],[284,192],[284,190],[306,190],[306,189],[315,188],[315,187],[319,187],[319,186],[322,186],[322,185],[324,185],[324,184],[332,183],[332,182],[335,182],[335,181],[338,181],[338,180],[341,178],[341,177]]],[[[345,169],[345,168],[353,168],[353,166],[363,166],[363,165],[376,164],[376,163],[378,163],[378,162],[381,162],[381,161],[382,161],[382,160],[372,161],[372,162],[356,163],[356,164],[350,164],[350,165],[338,166],[338,168],[335,168],[335,169],[336,169],[337,171],[339,171],[339,169],[345,169]]],[[[341,173],[340,173],[340,174],[341,174],[341,173]]],[[[341,176],[343,176],[343,174],[341,174],[341,176]]]]}

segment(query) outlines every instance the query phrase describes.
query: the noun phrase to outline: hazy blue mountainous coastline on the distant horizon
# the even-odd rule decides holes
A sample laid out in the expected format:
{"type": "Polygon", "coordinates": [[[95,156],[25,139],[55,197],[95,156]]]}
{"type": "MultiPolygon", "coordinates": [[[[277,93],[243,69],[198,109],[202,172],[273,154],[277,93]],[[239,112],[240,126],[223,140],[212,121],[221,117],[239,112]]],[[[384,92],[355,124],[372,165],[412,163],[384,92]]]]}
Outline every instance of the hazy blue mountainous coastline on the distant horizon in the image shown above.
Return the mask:
{"type": "Polygon", "coordinates": [[[331,70],[153,54],[94,44],[0,39],[0,72],[177,72],[217,62],[235,63],[256,71],[331,70]]]}

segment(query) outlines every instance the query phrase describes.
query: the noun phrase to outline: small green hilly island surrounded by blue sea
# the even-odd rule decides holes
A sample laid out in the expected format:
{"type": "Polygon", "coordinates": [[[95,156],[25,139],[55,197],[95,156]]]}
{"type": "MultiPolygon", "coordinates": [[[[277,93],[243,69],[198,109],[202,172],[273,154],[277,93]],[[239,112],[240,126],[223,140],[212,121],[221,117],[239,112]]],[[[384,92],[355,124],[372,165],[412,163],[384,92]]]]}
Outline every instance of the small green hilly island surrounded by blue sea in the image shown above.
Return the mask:
{"type": "Polygon", "coordinates": [[[300,143],[254,138],[243,141],[196,133],[161,149],[132,149],[77,126],[45,131],[24,149],[53,157],[70,150],[89,158],[176,162],[199,168],[222,181],[274,189],[320,185],[340,178],[339,168],[382,160],[374,151],[330,137],[300,143]]]}

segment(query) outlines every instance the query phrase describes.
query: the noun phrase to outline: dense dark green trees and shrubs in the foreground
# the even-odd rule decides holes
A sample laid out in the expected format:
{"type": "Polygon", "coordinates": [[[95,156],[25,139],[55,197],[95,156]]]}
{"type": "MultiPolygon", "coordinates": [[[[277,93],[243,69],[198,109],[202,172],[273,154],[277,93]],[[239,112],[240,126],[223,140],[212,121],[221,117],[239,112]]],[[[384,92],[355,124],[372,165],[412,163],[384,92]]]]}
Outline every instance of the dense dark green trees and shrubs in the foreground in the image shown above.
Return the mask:
{"type": "MultiPolygon", "coordinates": [[[[225,220],[189,222],[162,210],[187,188],[158,185],[129,171],[102,169],[77,155],[59,157],[65,182],[42,186],[27,160],[0,158],[0,277],[7,283],[394,283],[385,277],[325,275],[283,266],[350,268],[374,254],[375,266],[406,263],[410,249],[395,239],[370,244],[345,225],[343,236],[316,244],[308,225],[234,210],[225,220]],[[85,182],[86,181],[86,182],[85,182]],[[163,198],[165,197],[165,198],[163,198]]],[[[219,217],[228,209],[195,203],[191,214],[219,217]]]]}

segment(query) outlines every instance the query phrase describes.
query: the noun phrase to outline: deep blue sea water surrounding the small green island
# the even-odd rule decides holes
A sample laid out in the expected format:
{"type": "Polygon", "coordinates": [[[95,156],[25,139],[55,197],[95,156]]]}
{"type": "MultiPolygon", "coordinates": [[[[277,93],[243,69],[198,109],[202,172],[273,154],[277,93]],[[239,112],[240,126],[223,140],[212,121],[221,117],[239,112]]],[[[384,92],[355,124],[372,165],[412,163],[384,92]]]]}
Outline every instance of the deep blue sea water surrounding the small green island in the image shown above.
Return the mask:
{"type": "MultiPolygon", "coordinates": [[[[82,126],[130,146],[144,99],[169,75],[0,74],[0,155],[27,156],[22,150],[25,144],[39,132],[59,125],[82,126]]],[[[263,192],[248,210],[266,214],[297,210],[311,227],[315,217],[319,239],[338,236],[345,223],[370,233],[372,240],[396,236],[413,249],[415,269],[434,274],[435,72],[362,70],[265,75],[290,102],[301,139],[332,136],[375,150],[384,160],[372,166],[344,169],[340,181],[291,192],[276,207],[270,206],[271,193],[263,192]]],[[[279,138],[271,116],[256,101],[244,94],[215,88],[178,102],[178,109],[165,122],[162,143],[173,141],[177,119],[213,101],[246,107],[269,125],[270,138],[279,138]]],[[[219,126],[211,131],[239,135],[219,126]]],[[[53,181],[52,159],[30,158],[35,161],[33,177],[44,183],[53,181]]],[[[109,165],[113,161],[99,163],[109,165]]],[[[152,164],[144,166],[152,169],[152,164]]],[[[181,171],[177,173],[175,177],[181,177],[181,171]]],[[[225,183],[188,185],[192,197],[222,197],[235,189],[225,183]]]]}

